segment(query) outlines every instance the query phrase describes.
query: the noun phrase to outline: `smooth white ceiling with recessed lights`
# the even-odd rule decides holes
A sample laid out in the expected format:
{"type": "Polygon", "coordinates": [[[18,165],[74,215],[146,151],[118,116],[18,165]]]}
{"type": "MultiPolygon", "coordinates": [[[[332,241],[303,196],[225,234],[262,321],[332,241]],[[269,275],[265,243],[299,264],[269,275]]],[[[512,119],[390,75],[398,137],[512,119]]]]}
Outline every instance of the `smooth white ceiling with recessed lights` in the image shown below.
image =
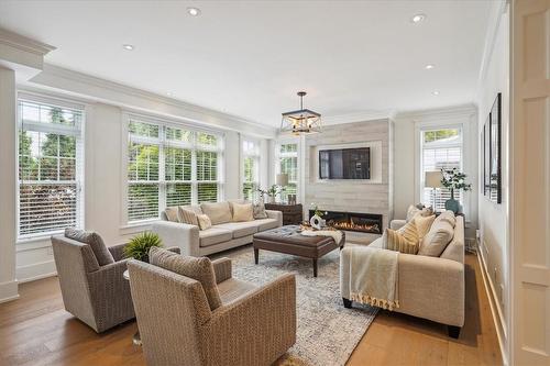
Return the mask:
{"type": "Polygon", "coordinates": [[[473,102],[490,8],[488,0],[1,0],[0,26],[56,46],[50,64],[278,126],[301,89],[306,107],[329,118],[473,102]],[[200,16],[187,14],[191,5],[200,16]],[[427,19],[414,24],[419,12],[427,19]]]}

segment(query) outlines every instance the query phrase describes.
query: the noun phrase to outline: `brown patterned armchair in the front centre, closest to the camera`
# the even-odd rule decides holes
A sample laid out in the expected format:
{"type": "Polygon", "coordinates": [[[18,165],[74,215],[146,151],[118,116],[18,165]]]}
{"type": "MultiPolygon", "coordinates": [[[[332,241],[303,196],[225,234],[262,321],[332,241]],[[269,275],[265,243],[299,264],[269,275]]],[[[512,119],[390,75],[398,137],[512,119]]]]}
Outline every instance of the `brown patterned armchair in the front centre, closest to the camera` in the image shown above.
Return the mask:
{"type": "Polygon", "coordinates": [[[231,260],[212,262],[221,306],[210,310],[201,282],[130,260],[143,352],[150,366],[271,365],[296,342],[296,280],[256,287],[232,278],[231,260]]]}

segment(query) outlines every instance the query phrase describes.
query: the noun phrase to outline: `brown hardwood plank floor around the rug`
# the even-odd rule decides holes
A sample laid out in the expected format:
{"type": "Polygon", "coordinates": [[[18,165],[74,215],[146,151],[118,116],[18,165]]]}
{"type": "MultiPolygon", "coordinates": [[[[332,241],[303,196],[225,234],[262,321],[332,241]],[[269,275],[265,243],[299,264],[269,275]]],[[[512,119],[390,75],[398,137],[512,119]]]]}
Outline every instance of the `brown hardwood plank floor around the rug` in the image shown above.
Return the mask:
{"type": "MultiPolygon", "coordinates": [[[[381,311],[350,357],[360,365],[501,365],[477,259],[466,256],[466,324],[459,340],[443,325],[381,311]]],[[[132,344],[135,321],[101,335],[63,308],[56,277],[23,284],[0,304],[0,365],[144,365],[132,344]]],[[[244,365],[243,365],[244,366],[244,365]]]]}

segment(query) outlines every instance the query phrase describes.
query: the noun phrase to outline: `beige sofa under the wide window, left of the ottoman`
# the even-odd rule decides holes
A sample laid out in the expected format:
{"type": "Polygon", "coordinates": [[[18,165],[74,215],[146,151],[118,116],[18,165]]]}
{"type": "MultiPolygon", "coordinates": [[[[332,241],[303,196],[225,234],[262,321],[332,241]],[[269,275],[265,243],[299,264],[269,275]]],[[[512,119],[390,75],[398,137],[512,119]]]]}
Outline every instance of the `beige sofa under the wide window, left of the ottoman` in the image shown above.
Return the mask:
{"type": "Polygon", "coordinates": [[[242,201],[230,201],[183,207],[197,214],[209,215],[212,221],[210,229],[199,230],[197,225],[170,222],[163,212],[162,220],[153,223],[152,231],[161,236],[165,247],[178,246],[183,255],[205,256],[250,244],[255,233],[283,225],[283,213],[272,210],[265,210],[266,219],[233,222],[231,221],[233,202],[242,203],[242,201]],[[206,207],[209,210],[204,212],[202,209],[206,207]]]}

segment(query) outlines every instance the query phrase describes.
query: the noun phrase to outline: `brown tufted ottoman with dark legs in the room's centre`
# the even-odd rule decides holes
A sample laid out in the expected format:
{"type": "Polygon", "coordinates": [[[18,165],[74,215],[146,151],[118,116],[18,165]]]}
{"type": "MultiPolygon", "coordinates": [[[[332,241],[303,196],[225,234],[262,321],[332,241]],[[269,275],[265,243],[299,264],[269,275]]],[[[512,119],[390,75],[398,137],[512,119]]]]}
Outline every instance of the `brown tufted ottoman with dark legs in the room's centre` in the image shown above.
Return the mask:
{"type": "Polygon", "coordinates": [[[344,232],[340,243],[336,243],[330,236],[301,235],[299,225],[286,225],[256,233],[252,241],[255,264],[260,259],[260,249],[297,255],[312,259],[314,277],[317,277],[317,259],[336,248],[343,248],[344,243],[344,232]]]}

